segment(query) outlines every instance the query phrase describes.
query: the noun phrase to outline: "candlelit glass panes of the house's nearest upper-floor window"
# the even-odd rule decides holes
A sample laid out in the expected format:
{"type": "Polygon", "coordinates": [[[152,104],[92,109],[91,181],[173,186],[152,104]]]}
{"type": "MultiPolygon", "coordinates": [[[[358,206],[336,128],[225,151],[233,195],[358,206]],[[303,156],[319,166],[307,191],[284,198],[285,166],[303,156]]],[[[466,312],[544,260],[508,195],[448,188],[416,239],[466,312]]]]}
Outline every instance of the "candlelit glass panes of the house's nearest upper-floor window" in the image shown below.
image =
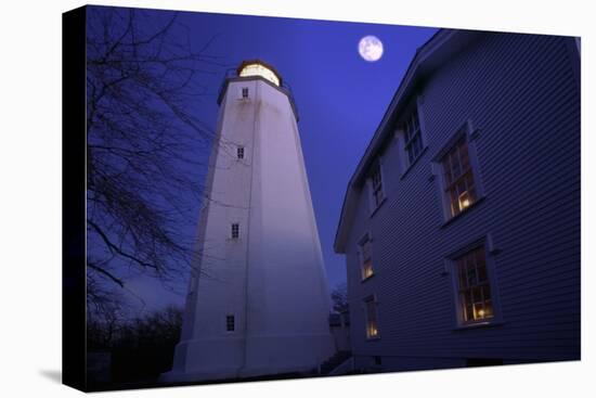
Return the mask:
{"type": "Polygon", "coordinates": [[[457,216],[478,198],[466,134],[443,156],[441,164],[449,211],[451,217],[457,216]]]}

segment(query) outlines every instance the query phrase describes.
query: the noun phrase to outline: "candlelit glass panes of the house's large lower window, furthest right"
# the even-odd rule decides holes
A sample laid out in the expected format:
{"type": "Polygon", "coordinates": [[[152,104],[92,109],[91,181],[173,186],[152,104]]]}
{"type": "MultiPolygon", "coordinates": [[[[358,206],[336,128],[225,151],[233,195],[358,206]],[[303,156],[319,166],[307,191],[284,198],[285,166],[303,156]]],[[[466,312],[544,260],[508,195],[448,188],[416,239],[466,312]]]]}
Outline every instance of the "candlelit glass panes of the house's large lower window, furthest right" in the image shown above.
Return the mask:
{"type": "Polygon", "coordinates": [[[494,317],[494,299],[487,268],[484,247],[454,259],[462,323],[487,321],[494,317]]]}

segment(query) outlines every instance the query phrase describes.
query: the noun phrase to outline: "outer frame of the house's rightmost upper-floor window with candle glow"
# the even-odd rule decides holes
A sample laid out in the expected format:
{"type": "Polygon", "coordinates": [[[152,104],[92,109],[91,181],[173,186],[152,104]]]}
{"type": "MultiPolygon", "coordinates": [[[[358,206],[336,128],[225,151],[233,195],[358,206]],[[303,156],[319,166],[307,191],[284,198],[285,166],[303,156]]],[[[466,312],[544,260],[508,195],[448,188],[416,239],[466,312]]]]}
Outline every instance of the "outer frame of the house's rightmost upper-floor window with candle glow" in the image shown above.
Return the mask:
{"type": "MultiPolygon", "coordinates": [[[[476,147],[476,140],[479,136],[480,130],[475,129],[471,120],[466,120],[458,129],[455,130],[441,150],[435,155],[431,162],[431,171],[432,178],[437,179],[437,185],[440,195],[440,203],[443,209],[443,224],[449,223],[451,220],[457,219],[461,216],[467,214],[471,208],[475,208],[482,200],[485,197],[484,185],[482,183],[480,165],[478,163],[478,154],[476,147]],[[448,195],[448,188],[450,184],[445,181],[445,169],[444,169],[444,157],[451,152],[451,150],[462,140],[466,139],[467,149],[468,149],[468,161],[471,177],[474,180],[474,187],[476,190],[476,200],[469,204],[466,208],[459,210],[457,214],[452,215],[451,211],[451,198],[448,195]]],[[[462,175],[464,176],[464,175],[462,175]]],[[[459,178],[462,178],[459,176],[459,178]]]]}

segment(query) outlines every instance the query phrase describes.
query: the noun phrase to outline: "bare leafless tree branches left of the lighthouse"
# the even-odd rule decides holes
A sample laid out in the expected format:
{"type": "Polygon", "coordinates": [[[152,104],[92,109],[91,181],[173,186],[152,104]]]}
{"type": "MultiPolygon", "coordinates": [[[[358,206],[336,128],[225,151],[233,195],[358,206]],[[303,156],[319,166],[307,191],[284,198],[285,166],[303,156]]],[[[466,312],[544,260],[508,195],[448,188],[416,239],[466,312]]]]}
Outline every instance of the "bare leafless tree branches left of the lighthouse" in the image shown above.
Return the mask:
{"type": "Polygon", "coordinates": [[[88,309],[114,312],[132,272],[165,284],[193,262],[213,131],[197,115],[210,41],[193,48],[176,13],[91,8],[87,31],[88,309]],[[166,16],[164,16],[166,15],[166,16]]]}

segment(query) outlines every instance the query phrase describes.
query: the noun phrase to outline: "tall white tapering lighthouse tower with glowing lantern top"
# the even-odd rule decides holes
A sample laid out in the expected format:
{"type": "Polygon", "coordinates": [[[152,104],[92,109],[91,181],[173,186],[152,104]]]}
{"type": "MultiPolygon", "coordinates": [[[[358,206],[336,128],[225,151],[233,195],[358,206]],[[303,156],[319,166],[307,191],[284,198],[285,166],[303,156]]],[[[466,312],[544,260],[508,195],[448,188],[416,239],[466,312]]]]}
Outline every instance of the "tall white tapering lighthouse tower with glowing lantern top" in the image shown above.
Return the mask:
{"type": "Polygon", "coordinates": [[[243,62],[218,99],[200,258],[165,381],[315,369],[335,351],[297,114],[282,77],[243,62]]]}

